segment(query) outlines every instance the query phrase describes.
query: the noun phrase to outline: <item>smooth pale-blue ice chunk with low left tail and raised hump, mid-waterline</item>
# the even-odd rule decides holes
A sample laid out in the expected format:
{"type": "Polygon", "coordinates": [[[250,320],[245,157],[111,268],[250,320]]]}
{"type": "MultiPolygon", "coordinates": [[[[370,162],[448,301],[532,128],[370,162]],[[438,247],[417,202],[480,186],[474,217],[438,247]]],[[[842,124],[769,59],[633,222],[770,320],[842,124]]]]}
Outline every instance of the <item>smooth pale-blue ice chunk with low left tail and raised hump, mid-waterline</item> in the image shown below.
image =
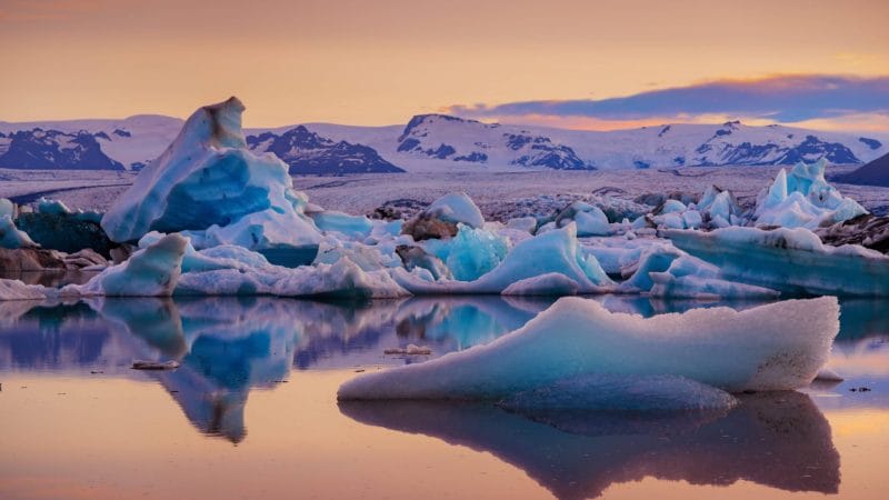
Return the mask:
{"type": "Polygon", "coordinates": [[[600,292],[603,287],[613,284],[596,257],[579,247],[575,224],[522,241],[512,248],[500,266],[475,281],[429,283],[400,271],[403,270],[396,269],[393,278],[414,294],[500,293],[517,281],[550,272],[565,274],[577,282],[581,293],[600,292]]]}

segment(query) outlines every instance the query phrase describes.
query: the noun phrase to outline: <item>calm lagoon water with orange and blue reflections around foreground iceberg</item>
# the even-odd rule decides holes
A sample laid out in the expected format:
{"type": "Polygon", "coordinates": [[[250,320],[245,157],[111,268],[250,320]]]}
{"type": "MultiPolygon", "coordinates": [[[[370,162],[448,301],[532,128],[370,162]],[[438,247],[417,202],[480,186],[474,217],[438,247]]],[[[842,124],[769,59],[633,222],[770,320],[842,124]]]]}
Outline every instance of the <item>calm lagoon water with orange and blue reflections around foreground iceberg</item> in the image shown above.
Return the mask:
{"type": "MultiPolygon", "coordinates": [[[[645,316],[711,306],[590,300],[645,316]]],[[[529,420],[336,401],[359,371],[489,342],[550,303],[0,302],[0,498],[889,498],[879,301],[842,306],[830,367],[845,382],[748,394],[726,413],[529,420]],[[409,343],[433,353],[383,356],[409,343]]]]}

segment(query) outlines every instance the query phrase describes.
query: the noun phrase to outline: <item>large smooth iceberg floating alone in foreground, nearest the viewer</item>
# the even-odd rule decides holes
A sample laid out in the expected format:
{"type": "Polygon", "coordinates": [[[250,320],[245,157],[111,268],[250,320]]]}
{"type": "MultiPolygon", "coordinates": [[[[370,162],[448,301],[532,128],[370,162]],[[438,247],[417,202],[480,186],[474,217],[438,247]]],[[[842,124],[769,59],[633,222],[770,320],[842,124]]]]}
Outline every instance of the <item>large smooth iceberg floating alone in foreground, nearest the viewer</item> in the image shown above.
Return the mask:
{"type": "Polygon", "coordinates": [[[789,390],[811,382],[838,331],[833,297],[650,319],[562,298],[487,346],[359,377],[338,398],[499,400],[591,374],[678,376],[731,392],[789,390]]]}

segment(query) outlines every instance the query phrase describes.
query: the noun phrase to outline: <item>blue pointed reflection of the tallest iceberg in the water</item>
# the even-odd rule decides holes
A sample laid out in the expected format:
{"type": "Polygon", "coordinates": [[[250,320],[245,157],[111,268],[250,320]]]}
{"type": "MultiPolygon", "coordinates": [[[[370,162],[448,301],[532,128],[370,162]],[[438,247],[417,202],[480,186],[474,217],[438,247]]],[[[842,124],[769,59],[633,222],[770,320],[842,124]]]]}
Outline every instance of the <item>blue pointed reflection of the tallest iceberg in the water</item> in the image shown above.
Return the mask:
{"type": "Polygon", "coordinates": [[[251,388],[287,377],[294,326],[284,301],[256,299],[106,300],[102,316],[126,327],[153,350],[174,359],[173,371],[150,373],[201,431],[232,442],[247,434],[243,408],[251,388]]]}

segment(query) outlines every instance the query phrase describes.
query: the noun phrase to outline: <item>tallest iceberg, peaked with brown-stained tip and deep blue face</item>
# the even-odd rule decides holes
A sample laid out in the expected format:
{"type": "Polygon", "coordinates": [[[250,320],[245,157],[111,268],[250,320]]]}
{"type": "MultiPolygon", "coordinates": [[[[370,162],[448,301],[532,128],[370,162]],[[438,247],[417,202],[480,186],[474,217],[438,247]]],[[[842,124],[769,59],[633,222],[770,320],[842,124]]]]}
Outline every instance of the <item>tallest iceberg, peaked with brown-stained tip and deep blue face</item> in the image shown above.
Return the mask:
{"type": "MultiPolygon", "coordinates": [[[[289,250],[317,248],[320,233],[287,164],[247,148],[243,110],[231,98],[196,111],[102,218],[108,236],[124,242],[150,231],[188,231],[196,248],[233,243],[281,260],[289,250]]],[[[311,262],[309,253],[301,260],[311,262]]]]}

